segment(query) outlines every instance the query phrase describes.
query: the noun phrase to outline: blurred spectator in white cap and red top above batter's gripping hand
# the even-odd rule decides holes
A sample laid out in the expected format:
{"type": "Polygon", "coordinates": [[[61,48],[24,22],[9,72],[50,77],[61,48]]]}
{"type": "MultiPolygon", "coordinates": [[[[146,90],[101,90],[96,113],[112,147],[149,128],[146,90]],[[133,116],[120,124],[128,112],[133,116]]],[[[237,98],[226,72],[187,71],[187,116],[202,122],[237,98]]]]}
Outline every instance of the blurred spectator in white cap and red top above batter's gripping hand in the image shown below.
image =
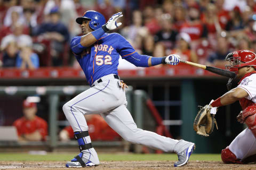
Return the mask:
{"type": "Polygon", "coordinates": [[[178,36],[177,47],[170,54],[177,54],[182,60],[197,63],[197,55],[194,50],[190,49],[190,42],[190,36],[185,32],[181,32],[178,36]]]}

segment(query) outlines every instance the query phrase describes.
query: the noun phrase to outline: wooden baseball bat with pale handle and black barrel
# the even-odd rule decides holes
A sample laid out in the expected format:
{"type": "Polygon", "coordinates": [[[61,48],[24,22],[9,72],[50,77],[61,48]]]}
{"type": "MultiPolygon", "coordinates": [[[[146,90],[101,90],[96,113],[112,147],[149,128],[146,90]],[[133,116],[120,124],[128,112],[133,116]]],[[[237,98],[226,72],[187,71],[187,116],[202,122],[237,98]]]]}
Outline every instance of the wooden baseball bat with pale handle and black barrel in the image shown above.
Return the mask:
{"type": "Polygon", "coordinates": [[[197,64],[197,63],[188,62],[188,61],[185,61],[185,60],[180,60],[180,62],[189,64],[189,65],[193,65],[193,66],[199,67],[201,69],[204,69],[204,70],[207,70],[207,71],[210,71],[212,73],[219,74],[219,75],[222,75],[222,76],[225,76],[225,77],[228,77],[228,78],[235,78],[236,77],[236,74],[234,72],[219,69],[217,67],[211,67],[211,66],[207,66],[207,65],[203,65],[203,64],[197,64]]]}

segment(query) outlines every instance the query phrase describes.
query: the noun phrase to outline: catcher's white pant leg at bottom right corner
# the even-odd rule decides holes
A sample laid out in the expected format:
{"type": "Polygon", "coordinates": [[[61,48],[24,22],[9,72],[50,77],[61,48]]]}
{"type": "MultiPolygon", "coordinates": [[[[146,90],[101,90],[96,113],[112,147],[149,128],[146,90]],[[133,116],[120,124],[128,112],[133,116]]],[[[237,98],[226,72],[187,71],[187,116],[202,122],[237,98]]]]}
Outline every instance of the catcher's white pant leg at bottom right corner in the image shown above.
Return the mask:
{"type": "Polygon", "coordinates": [[[256,138],[248,128],[243,130],[228,146],[237,159],[245,159],[256,154],[256,138]]]}

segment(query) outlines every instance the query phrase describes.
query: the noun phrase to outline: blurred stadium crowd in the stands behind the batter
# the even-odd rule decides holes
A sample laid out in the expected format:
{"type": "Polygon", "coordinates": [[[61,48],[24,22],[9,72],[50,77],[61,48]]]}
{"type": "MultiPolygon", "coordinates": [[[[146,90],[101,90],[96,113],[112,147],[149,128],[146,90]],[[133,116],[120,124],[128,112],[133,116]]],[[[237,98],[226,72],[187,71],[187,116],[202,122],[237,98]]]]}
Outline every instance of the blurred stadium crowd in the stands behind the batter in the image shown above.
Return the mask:
{"type": "Polygon", "coordinates": [[[87,10],[123,11],[115,32],[140,54],[223,67],[229,52],[256,50],[254,0],[0,0],[0,66],[78,68],[69,41],[87,10]]]}

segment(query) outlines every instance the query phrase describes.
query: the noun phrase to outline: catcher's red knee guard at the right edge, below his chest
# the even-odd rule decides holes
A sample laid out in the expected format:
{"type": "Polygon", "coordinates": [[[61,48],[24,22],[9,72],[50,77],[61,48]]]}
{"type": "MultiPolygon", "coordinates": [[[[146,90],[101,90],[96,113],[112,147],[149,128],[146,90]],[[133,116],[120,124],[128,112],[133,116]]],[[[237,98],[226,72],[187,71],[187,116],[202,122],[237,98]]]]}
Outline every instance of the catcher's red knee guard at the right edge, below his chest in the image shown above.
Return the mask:
{"type": "Polygon", "coordinates": [[[242,113],[243,121],[256,138],[256,106],[246,107],[242,113]]]}

